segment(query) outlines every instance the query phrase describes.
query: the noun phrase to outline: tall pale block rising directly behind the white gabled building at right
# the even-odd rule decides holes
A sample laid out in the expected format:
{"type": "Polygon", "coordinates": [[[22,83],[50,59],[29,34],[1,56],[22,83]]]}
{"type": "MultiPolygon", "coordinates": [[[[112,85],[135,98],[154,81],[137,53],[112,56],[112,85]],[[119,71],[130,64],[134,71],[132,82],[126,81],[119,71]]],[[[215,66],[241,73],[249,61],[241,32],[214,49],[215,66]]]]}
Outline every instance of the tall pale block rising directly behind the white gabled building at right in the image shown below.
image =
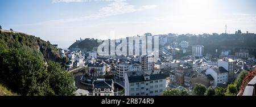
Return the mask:
{"type": "Polygon", "coordinates": [[[234,74],[235,61],[233,59],[224,57],[222,59],[218,59],[217,65],[218,67],[223,67],[225,70],[229,72],[228,82],[229,83],[233,82],[235,78],[235,74],[234,74]]]}

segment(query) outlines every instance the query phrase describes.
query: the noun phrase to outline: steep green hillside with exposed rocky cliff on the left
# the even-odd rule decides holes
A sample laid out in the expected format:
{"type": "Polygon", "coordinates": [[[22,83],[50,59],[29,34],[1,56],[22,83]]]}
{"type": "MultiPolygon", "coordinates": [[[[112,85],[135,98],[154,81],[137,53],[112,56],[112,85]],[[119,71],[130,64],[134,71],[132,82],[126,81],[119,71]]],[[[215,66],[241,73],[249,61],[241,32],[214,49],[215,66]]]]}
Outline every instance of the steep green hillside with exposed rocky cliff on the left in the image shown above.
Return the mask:
{"type": "Polygon", "coordinates": [[[19,95],[73,95],[73,76],[49,42],[23,33],[0,33],[0,82],[19,95]]]}

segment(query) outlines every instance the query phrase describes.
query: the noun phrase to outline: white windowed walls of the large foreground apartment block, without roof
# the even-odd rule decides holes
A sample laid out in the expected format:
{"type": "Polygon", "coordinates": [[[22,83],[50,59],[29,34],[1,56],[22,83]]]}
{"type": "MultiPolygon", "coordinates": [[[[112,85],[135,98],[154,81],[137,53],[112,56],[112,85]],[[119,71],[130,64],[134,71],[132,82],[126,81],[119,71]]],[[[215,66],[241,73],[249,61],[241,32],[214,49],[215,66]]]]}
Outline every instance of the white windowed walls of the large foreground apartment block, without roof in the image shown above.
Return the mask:
{"type": "Polygon", "coordinates": [[[164,76],[163,78],[153,80],[151,79],[153,77],[149,75],[138,76],[143,76],[143,80],[129,82],[128,77],[131,76],[128,76],[127,73],[125,74],[125,96],[159,96],[166,90],[166,79],[164,76]]]}

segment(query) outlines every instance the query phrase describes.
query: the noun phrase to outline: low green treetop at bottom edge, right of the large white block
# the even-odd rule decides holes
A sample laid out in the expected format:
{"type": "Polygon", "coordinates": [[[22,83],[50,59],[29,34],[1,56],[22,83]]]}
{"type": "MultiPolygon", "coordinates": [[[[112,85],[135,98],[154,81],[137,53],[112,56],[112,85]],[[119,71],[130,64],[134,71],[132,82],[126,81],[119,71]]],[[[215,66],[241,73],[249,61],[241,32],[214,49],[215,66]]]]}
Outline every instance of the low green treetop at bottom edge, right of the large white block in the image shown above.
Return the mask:
{"type": "Polygon", "coordinates": [[[163,96],[189,96],[189,92],[185,89],[168,89],[163,92],[163,96]]]}

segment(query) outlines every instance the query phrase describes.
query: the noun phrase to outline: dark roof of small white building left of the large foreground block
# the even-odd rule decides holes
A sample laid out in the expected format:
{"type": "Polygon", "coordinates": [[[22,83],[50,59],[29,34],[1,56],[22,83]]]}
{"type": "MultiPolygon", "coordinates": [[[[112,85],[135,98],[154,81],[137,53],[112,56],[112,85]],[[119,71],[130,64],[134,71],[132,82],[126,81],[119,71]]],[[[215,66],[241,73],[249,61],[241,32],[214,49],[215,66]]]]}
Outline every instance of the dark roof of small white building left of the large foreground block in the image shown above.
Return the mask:
{"type": "Polygon", "coordinates": [[[96,80],[93,82],[93,88],[100,88],[103,91],[105,88],[112,89],[112,80],[96,80]]]}

